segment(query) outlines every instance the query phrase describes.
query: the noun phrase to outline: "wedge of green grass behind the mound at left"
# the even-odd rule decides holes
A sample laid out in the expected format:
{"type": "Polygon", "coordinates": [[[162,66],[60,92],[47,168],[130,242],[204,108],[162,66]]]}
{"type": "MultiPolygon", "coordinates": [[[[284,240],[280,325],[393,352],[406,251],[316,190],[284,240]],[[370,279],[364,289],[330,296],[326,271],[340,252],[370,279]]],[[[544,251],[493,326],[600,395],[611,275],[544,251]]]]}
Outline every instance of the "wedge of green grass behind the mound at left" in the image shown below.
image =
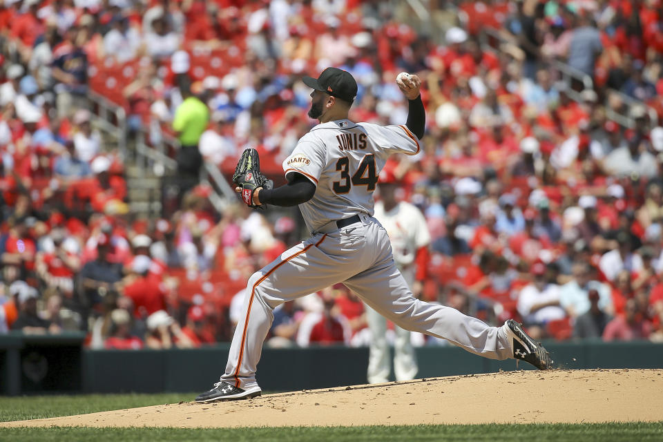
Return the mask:
{"type": "MultiPolygon", "coordinates": [[[[0,422],[147,407],[192,401],[198,393],[166,394],[80,394],[75,396],[0,396],[0,422]]],[[[2,438],[0,437],[0,441],[2,438]]]]}

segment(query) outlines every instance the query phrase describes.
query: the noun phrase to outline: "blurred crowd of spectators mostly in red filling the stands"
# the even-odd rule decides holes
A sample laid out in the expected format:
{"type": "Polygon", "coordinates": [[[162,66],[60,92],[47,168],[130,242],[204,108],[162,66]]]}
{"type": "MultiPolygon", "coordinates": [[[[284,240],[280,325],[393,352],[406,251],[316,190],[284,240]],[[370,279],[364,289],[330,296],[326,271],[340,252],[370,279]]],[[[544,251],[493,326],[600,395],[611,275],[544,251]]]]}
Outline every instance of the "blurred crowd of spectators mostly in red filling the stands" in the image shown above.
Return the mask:
{"type": "MultiPolygon", "coordinates": [[[[93,348],[229,340],[251,273],[306,232],[296,211],[213,210],[200,163],[228,174],[253,147],[282,181],[315,124],[299,79],[337,66],[364,122],[403,124],[396,75],[423,80],[425,148],[387,163],[432,236],[423,298],[537,338],[663,340],[663,3],[439,1],[441,41],[401,3],[4,0],[0,332],[81,329],[93,348]],[[179,139],[191,180],[175,210],[129,211],[128,156],[95,124],[93,93],[149,146],[179,139]]],[[[270,334],[370,339],[343,285],[277,309],[270,334]]]]}

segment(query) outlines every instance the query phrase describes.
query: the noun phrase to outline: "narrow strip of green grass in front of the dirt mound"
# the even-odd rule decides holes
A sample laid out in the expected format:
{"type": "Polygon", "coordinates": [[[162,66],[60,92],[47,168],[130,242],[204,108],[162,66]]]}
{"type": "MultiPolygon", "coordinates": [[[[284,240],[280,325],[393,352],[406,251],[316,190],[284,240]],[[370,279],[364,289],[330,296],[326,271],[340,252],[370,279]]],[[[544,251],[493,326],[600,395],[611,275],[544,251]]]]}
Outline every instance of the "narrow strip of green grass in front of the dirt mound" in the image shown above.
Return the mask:
{"type": "Polygon", "coordinates": [[[228,430],[180,428],[2,428],[6,441],[660,441],[663,423],[285,427],[228,430]]]}

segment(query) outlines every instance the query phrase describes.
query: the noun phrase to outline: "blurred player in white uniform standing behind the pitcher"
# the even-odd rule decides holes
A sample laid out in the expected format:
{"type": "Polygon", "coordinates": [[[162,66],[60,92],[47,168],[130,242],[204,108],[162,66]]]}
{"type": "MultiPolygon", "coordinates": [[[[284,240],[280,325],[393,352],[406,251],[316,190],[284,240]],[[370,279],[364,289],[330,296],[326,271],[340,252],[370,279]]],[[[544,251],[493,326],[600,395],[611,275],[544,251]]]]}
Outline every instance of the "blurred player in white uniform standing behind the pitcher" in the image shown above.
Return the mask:
{"type": "MultiPolygon", "coordinates": [[[[396,200],[398,180],[387,164],[379,175],[380,200],[375,203],[374,217],[387,231],[396,267],[407,286],[419,297],[426,278],[430,233],[423,214],[409,202],[396,200]]],[[[371,330],[368,356],[368,382],[389,381],[390,349],[387,343],[387,319],[366,305],[366,320],[371,330]]],[[[396,381],[410,381],[416,376],[416,354],[410,332],[394,325],[394,376],[396,381]]]]}

